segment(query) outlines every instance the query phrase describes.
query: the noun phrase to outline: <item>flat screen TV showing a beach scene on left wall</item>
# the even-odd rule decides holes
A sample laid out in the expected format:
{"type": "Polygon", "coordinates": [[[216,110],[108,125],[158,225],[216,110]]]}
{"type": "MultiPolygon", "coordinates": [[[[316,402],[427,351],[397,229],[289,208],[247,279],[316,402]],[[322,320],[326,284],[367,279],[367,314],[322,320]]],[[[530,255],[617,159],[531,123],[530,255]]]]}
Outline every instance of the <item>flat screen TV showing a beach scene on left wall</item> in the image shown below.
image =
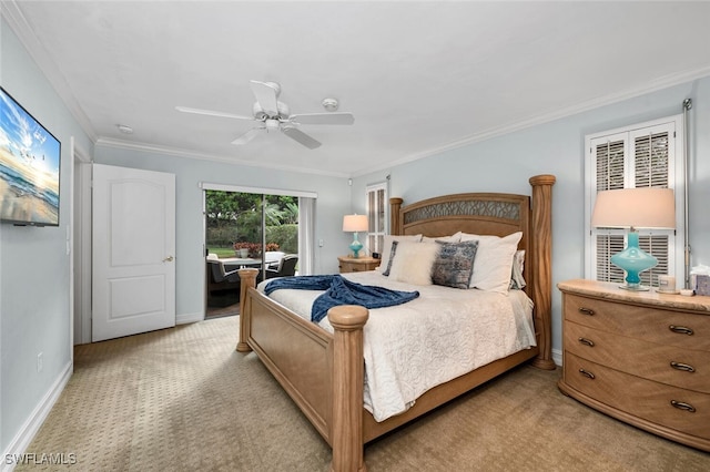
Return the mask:
{"type": "Polygon", "coordinates": [[[0,220],[59,226],[61,143],[0,88],[0,220]]]}

